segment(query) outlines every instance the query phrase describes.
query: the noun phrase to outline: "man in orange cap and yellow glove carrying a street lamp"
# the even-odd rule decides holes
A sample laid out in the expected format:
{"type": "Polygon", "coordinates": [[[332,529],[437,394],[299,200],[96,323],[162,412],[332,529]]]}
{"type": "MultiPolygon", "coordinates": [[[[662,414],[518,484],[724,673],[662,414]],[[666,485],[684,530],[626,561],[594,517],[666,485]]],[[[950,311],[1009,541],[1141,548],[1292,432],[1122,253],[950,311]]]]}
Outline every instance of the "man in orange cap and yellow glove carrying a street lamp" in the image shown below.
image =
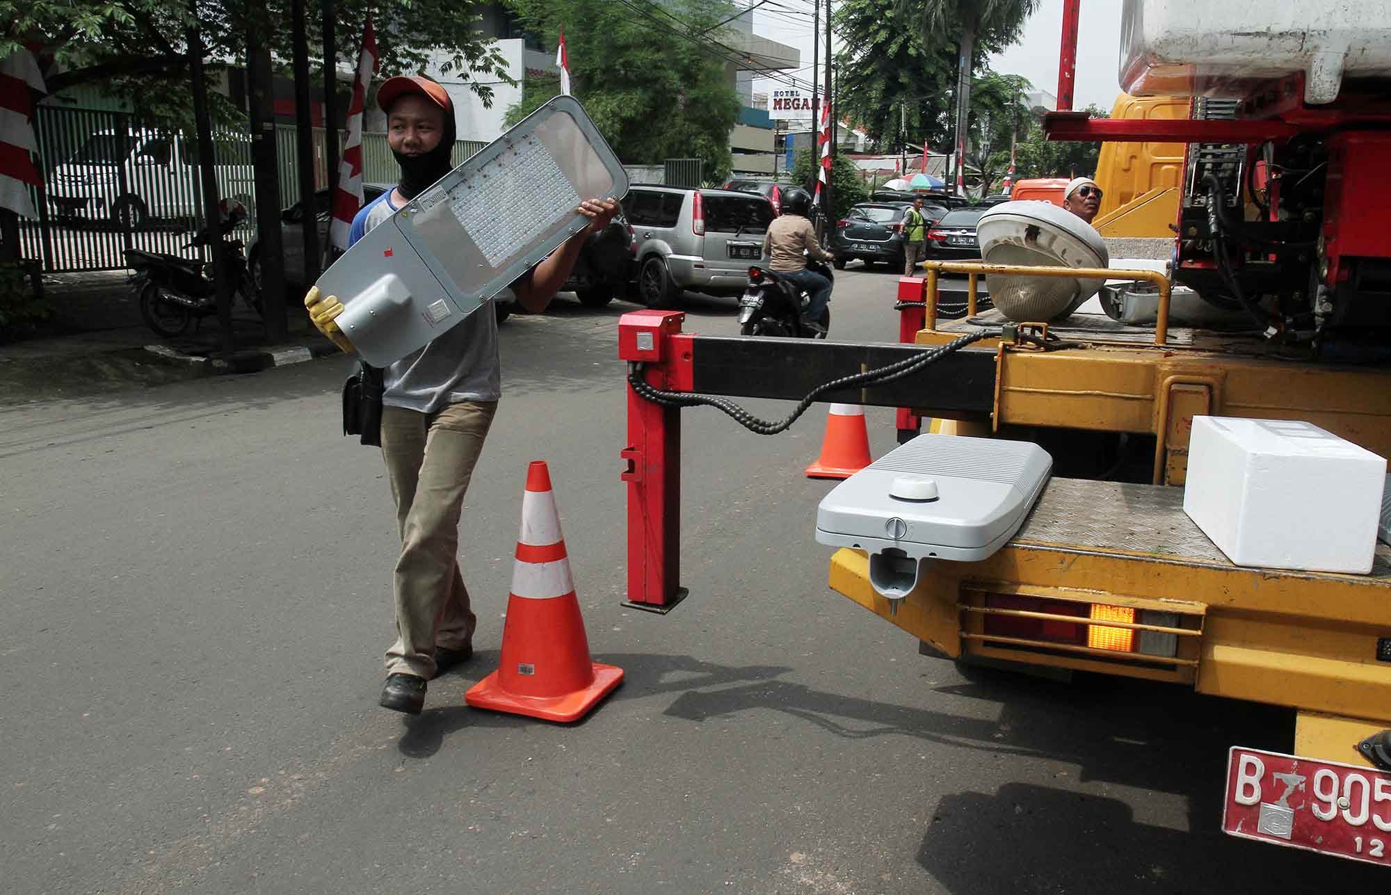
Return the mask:
{"type": "MultiPolygon", "coordinates": [[[[352,222],[349,246],[452,170],[453,103],[421,76],[388,79],[377,92],[387,113],[387,143],[401,179],[352,222]]],[[[586,235],[618,214],[613,200],[586,200],[593,220],[494,300],[530,313],[545,310],[570,275],[586,235]]],[[[342,304],[312,289],[305,296],[314,325],[345,350],[352,343],[332,322],[342,304]]],[[[387,709],[417,714],[426,681],[473,656],[477,617],[459,568],[459,517],[483,442],[502,395],[498,321],[491,309],[467,315],[423,349],[383,372],[381,454],[396,504],[401,553],[392,575],[396,638],[387,649],[387,709]]]]}

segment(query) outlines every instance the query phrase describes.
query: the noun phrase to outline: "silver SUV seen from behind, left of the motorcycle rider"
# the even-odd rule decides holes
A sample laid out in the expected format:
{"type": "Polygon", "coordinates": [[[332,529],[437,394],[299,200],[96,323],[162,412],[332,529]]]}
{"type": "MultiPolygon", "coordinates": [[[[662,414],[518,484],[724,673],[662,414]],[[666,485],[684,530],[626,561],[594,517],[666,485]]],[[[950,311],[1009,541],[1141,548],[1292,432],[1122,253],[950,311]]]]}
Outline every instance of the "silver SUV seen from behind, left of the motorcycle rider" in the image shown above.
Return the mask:
{"type": "Polygon", "coordinates": [[[637,295],[675,307],[682,292],[740,295],[776,213],[755,193],[633,186],[623,213],[637,242],[637,295]]]}

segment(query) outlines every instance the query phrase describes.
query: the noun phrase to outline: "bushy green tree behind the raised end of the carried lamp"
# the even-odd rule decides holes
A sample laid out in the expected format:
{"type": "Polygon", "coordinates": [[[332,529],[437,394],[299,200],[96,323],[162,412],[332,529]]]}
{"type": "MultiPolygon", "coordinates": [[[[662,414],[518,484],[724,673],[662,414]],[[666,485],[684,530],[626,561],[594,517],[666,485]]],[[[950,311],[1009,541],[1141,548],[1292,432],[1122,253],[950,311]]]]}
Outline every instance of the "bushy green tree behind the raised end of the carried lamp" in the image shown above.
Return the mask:
{"type": "MultiPolygon", "coordinates": [[[[729,133],[740,100],[725,63],[619,3],[510,0],[533,31],[552,42],[565,28],[570,88],[584,111],[629,164],[700,158],[708,181],[733,168],[729,133]]],[[[665,4],[694,33],[715,28],[737,10],[725,0],[665,4]]],[[[673,28],[680,28],[673,24],[673,28]]],[[[508,108],[515,124],[559,93],[556,78],[527,78],[522,101],[508,108]]]]}

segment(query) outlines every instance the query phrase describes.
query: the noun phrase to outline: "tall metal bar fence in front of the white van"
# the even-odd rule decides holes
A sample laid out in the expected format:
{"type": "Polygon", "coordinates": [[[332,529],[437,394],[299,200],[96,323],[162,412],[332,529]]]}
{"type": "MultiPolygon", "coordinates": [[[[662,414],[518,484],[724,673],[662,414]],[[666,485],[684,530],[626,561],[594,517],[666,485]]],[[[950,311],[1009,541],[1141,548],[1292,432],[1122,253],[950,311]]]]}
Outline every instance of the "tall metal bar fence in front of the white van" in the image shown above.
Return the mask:
{"type": "MultiPolygon", "coordinates": [[[[49,272],[125,268],[125,250],[200,258],[191,247],[202,227],[202,181],[196,139],[142,128],[124,113],[40,106],[35,120],[42,189],[32,189],[38,218],[19,220],[19,252],[49,272]]],[[[339,146],[345,135],[339,132],[339,146]]],[[[250,135],[213,135],[218,195],[246,206],[238,236],[256,235],[250,135]]],[[[275,128],[281,207],[299,202],[296,131],[275,128]]],[[[314,128],[314,189],[328,188],[323,128],[314,128]]],[[[459,164],[485,143],[460,140],[459,164]]],[[[363,135],[363,181],[394,183],[396,164],[384,133],[363,135]]],[[[327,204],[327,203],[325,203],[327,204]]],[[[323,221],[327,231],[327,218],[323,221]]]]}

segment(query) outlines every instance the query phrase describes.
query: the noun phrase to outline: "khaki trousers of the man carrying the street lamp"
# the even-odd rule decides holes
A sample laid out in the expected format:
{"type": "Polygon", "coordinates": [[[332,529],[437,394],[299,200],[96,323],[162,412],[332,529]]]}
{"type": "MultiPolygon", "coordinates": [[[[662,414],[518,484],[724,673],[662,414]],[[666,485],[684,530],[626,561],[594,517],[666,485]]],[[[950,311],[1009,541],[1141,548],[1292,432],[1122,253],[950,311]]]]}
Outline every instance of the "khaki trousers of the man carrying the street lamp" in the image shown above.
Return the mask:
{"type": "Polygon", "coordinates": [[[396,500],[401,556],[392,578],[396,642],[387,674],[434,677],[434,650],[460,649],[477,617],[459,571],[459,513],[497,402],[463,402],[440,413],[383,407],[381,456],[396,500]]]}

